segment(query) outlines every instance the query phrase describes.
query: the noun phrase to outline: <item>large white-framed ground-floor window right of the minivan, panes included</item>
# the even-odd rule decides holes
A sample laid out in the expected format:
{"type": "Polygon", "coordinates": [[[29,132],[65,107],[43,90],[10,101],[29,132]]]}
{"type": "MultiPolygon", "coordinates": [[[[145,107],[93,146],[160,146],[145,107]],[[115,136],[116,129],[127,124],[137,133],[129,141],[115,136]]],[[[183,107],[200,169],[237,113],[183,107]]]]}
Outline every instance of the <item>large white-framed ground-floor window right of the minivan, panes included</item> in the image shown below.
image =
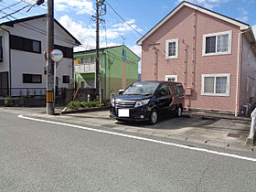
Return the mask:
{"type": "Polygon", "coordinates": [[[229,96],[230,74],[202,75],[202,95],[229,96]]]}

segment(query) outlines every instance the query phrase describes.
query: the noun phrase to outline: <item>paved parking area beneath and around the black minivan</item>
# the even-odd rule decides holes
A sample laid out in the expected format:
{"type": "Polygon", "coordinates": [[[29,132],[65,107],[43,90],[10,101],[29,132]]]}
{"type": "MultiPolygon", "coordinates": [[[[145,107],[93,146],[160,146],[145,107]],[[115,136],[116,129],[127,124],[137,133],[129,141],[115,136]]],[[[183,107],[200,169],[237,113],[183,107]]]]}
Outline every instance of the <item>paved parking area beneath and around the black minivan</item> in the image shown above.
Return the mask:
{"type": "Polygon", "coordinates": [[[46,115],[45,108],[2,108],[5,112],[16,112],[51,121],[94,126],[112,131],[140,133],[159,137],[211,144],[221,147],[245,147],[245,140],[250,131],[250,123],[240,123],[227,119],[202,118],[185,114],[180,118],[171,115],[161,117],[155,125],[148,123],[120,123],[110,118],[109,111],[69,113],[58,116],[46,115]]]}

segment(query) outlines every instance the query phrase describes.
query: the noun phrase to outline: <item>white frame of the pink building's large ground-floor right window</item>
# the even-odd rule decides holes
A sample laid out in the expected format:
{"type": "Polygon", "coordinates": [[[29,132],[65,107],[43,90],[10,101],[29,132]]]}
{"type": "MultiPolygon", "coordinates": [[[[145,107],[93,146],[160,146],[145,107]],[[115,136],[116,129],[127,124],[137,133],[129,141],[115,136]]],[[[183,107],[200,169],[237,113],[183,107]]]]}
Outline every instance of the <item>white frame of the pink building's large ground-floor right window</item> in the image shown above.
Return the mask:
{"type": "Polygon", "coordinates": [[[229,97],[230,95],[230,73],[219,73],[219,74],[202,74],[201,79],[201,95],[203,96],[217,96],[217,97],[229,97]],[[216,78],[226,77],[227,88],[226,93],[216,93],[216,78]],[[214,93],[205,92],[205,78],[214,78],[214,93]]]}

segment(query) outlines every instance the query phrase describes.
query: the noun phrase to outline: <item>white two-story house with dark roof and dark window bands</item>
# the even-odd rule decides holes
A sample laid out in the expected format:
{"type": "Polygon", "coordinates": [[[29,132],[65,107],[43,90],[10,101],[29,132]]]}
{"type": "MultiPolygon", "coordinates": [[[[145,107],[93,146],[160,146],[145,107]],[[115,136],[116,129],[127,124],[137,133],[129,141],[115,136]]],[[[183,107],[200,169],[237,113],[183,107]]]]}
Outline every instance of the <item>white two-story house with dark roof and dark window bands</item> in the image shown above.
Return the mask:
{"type": "MultiPolygon", "coordinates": [[[[0,96],[44,95],[46,92],[47,17],[31,16],[0,24],[0,96]]],[[[59,88],[72,86],[73,48],[80,42],[57,20],[54,45],[62,50],[56,81],[59,88]]]]}

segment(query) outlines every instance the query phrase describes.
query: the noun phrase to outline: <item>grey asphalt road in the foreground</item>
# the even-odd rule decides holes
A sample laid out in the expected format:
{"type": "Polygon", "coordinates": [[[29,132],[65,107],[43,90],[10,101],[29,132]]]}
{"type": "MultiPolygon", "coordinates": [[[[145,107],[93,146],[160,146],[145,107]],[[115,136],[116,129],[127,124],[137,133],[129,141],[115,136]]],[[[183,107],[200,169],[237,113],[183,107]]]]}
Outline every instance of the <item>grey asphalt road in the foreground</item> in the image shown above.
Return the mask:
{"type": "MultiPolygon", "coordinates": [[[[256,188],[255,161],[31,121],[12,113],[0,112],[0,122],[0,191],[255,191],[256,188]]],[[[176,143],[171,139],[150,139],[176,143]]],[[[253,152],[208,149],[256,159],[253,152]]]]}

